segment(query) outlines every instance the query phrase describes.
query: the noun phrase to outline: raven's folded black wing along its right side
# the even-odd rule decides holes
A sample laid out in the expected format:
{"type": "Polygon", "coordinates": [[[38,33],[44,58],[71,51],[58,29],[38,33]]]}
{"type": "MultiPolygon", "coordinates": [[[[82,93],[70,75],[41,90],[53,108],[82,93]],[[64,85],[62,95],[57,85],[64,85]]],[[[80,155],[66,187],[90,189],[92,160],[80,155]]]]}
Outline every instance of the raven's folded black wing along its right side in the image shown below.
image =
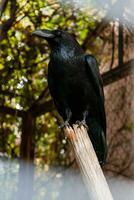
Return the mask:
{"type": "Polygon", "coordinates": [[[101,75],[99,72],[98,63],[95,57],[92,55],[85,55],[85,59],[87,62],[86,70],[87,70],[90,80],[92,80],[92,84],[97,96],[98,107],[100,110],[100,120],[101,120],[104,134],[106,136],[106,115],[105,115],[105,108],[104,108],[104,92],[103,92],[103,83],[102,83],[101,75]]]}

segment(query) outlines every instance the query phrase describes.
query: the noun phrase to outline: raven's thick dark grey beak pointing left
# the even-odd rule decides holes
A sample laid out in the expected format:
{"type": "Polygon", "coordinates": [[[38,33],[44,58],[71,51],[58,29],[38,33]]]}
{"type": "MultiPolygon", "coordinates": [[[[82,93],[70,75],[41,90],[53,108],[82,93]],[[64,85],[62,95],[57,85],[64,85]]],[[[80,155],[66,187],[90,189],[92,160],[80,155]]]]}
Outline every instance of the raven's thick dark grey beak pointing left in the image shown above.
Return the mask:
{"type": "Polygon", "coordinates": [[[32,35],[37,35],[43,38],[54,38],[55,35],[50,30],[42,29],[42,30],[35,30],[32,32],[32,35]]]}

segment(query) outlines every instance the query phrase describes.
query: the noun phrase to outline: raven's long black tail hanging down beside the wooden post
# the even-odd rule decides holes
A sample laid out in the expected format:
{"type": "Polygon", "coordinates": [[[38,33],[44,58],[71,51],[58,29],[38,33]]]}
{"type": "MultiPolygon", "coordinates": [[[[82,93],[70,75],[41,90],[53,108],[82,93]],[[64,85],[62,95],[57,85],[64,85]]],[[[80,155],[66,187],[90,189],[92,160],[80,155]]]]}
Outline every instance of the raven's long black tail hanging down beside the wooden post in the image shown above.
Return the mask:
{"type": "Polygon", "coordinates": [[[88,123],[88,134],[101,166],[106,163],[107,143],[105,133],[98,123],[88,123]]]}

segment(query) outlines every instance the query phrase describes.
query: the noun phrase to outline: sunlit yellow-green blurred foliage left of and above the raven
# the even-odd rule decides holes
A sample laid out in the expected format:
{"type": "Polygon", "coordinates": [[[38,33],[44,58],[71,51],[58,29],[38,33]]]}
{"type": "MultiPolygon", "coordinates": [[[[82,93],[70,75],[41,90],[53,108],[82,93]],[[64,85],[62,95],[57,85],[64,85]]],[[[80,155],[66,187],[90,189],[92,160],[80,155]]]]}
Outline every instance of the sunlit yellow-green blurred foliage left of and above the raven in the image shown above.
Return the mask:
{"type": "MultiPolygon", "coordinates": [[[[58,129],[57,114],[50,113],[54,110],[52,103],[49,107],[46,104],[51,101],[47,89],[49,48],[45,41],[31,33],[37,28],[61,28],[75,34],[83,44],[97,21],[57,1],[6,0],[1,3],[0,151],[11,157],[19,156],[21,119],[31,110],[36,118],[36,160],[65,164],[66,141],[58,129]],[[36,112],[43,107],[43,113],[36,112]]],[[[87,51],[91,51],[90,46],[87,51]]]]}

